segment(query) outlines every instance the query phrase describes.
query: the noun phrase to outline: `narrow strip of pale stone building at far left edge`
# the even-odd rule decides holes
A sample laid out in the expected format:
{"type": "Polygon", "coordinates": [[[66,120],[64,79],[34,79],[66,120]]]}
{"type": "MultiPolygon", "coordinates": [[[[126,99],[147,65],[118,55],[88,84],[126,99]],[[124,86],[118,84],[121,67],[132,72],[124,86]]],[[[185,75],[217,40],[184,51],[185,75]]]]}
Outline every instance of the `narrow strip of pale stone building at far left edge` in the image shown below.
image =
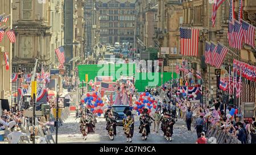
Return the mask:
{"type": "MultiPolygon", "coordinates": [[[[1,28],[9,31],[13,28],[13,10],[11,8],[11,3],[13,1],[1,1],[0,2],[0,14],[5,13],[10,15],[7,23],[1,23],[1,28]]],[[[0,98],[5,98],[10,100],[11,94],[11,72],[12,72],[12,62],[13,62],[13,44],[10,43],[9,38],[6,33],[3,37],[3,40],[0,42],[0,98]],[[8,52],[9,57],[9,70],[6,70],[5,56],[4,52],[8,52]]],[[[10,101],[9,101],[10,102],[10,101]]]]}

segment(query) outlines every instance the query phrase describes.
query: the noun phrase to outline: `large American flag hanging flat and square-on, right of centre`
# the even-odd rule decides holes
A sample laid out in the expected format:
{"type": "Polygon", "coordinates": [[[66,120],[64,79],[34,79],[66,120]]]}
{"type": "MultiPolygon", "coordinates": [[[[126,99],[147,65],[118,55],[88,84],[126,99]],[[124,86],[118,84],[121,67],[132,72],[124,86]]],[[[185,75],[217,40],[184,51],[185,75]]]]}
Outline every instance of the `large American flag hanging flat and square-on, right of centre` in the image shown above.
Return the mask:
{"type": "Polygon", "coordinates": [[[185,56],[198,55],[199,29],[180,28],[181,54],[185,56]]]}

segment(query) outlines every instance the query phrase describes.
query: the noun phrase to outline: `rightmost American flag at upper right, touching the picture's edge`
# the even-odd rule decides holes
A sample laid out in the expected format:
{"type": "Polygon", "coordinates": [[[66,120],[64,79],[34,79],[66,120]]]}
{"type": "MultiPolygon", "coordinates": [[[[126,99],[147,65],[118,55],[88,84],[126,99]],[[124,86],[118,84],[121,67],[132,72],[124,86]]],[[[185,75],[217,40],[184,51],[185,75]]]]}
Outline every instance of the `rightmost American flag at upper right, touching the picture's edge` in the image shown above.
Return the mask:
{"type": "Polygon", "coordinates": [[[244,20],[242,21],[243,36],[245,38],[245,44],[253,46],[255,41],[255,27],[244,20]]]}

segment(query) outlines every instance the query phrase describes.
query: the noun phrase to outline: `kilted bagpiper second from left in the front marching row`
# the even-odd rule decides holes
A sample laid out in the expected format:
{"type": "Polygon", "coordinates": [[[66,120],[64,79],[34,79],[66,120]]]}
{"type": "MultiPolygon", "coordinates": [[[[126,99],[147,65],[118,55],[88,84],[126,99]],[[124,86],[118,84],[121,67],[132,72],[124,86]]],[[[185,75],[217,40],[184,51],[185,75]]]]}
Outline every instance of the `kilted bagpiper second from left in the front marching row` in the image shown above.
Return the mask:
{"type": "Polygon", "coordinates": [[[109,132],[109,138],[110,140],[114,140],[114,135],[117,135],[117,129],[116,129],[116,117],[113,116],[111,111],[109,111],[108,116],[106,116],[106,130],[109,132]]]}

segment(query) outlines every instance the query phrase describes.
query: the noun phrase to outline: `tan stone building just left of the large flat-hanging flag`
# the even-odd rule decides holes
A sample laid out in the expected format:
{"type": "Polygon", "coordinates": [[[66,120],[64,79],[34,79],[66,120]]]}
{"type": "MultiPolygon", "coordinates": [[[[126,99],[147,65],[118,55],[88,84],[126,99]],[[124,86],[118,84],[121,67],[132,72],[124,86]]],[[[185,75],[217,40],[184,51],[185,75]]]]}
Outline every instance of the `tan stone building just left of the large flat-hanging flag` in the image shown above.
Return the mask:
{"type": "Polygon", "coordinates": [[[169,0],[158,1],[158,29],[155,32],[155,41],[159,47],[169,48],[169,54],[161,54],[159,58],[164,59],[163,71],[175,72],[176,64],[180,63],[179,27],[183,23],[182,1],[169,0]]]}

